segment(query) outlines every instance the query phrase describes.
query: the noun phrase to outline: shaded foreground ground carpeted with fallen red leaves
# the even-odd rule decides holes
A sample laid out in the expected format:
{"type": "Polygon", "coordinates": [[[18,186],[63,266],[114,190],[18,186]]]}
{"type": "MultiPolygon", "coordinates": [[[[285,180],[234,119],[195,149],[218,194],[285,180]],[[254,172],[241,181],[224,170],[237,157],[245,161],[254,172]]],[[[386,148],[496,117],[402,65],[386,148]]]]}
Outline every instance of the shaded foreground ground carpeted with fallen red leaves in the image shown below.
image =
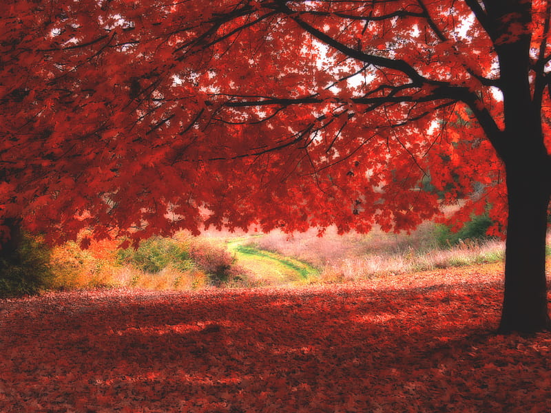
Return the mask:
{"type": "Polygon", "coordinates": [[[0,301],[0,412],[545,412],[551,333],[495,335],[500,269],[0,301]]]}

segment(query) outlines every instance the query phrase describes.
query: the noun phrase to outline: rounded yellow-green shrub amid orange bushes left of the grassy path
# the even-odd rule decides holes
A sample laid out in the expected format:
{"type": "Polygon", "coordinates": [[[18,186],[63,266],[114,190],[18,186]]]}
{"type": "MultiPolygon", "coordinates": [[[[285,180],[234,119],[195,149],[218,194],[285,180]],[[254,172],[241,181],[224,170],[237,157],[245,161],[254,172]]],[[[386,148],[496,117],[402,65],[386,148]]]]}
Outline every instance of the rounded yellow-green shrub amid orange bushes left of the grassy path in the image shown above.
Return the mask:
{"type": "Polygon", "coordinates": [[[189,257],[189,245],[171,238],[149,238],[137,249],[119,250],[117,258],[121,264],[130,264],[145,273],[158,273],[167,266],[178,271],[188,271],[194,267],[189,257]]]}

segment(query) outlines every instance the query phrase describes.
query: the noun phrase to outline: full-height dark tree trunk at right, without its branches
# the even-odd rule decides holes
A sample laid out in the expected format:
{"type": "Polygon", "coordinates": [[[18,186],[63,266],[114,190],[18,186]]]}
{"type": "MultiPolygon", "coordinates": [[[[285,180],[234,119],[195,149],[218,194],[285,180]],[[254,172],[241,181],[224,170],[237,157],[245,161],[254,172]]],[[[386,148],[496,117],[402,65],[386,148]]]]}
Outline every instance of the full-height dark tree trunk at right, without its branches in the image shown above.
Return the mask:
{"type": "MultiPolygon", "coordinates": [[[[532,22],[530,1],[485,4],[496,34],[514,30],[514,25],[529,27],[532,22]]],[[[505,163],[509,208],[499,324],[503,333],[535,332],[551,326],[545,279],[551,170],[541,127],[541,93],[532,93],[530,81],[531,42],[531,32],[519,32],[516,38],[495,43],[505,128],[493,142],[499,142],[495,148],[505,163]]]]}

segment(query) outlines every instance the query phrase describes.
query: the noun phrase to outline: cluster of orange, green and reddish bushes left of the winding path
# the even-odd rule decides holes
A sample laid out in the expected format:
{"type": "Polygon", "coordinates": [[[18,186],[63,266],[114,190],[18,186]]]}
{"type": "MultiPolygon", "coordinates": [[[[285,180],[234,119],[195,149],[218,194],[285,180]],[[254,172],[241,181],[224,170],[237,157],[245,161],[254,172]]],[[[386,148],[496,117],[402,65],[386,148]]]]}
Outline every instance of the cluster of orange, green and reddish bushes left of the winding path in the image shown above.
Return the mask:
{"type": "MultiPolygon", "coordinates": [[[[118,241],[120,242],[120,240],[118,241]]],[[[54,248],[52,288],[129,286],[153,290],[245,286],[248,275],[225,248],[195,237],[152,237],[138,248],[116,249],[116,242],[78,242],[54,248]]]]}

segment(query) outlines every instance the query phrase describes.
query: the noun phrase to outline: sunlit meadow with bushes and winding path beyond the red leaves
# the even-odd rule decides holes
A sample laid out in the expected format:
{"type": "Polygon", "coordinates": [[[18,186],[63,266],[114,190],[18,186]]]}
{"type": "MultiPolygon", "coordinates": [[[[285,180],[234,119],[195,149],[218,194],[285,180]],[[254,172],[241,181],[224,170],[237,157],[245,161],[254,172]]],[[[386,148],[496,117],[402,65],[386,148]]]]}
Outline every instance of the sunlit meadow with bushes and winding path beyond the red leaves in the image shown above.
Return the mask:
{"type": "MultiPolygon", "coordinates": [[[[479,226],[479,224],[477,224],[479,226]]],[[[116,241],[92,242],[81,250],[69,242],[51,251],[47,290],[143,288],[196,290],[360,282],[393,274],[502,262],[504,244],[475,225],[451,233],[426,222],[410,234],[337,235],[329,228],[292,235],[279,231],[205,231],[155,238],[134,250],[116,241]]]]}

